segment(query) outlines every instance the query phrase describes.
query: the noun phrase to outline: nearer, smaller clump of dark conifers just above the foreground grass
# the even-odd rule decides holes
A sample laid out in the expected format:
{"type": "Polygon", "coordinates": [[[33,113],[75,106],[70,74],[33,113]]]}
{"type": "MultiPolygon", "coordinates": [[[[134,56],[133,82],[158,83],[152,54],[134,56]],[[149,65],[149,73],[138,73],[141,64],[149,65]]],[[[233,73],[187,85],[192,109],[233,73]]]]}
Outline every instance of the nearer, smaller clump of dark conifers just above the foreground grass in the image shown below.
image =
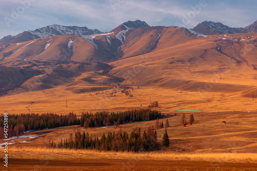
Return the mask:
{"type": "Polygon", "coordinates": [[[75,137],[70,134],[69,138],[61,139],[57,144],[49,142],[49,147],[52,148],[74,148],[74,149],[97,149],[99,151],[122,151],[122,152],[149,152],[159,149],[157,142],[157,132],[153,126],[149,126],[147,131],[141,135],[141,129],[136,128],[128,136],[127,132],[122,133],[120,129],[115,132],[108,132],[107,135],[103,133],[101,138],[92,136],[88,133],[79,131],[76,132],[75,137]]]}

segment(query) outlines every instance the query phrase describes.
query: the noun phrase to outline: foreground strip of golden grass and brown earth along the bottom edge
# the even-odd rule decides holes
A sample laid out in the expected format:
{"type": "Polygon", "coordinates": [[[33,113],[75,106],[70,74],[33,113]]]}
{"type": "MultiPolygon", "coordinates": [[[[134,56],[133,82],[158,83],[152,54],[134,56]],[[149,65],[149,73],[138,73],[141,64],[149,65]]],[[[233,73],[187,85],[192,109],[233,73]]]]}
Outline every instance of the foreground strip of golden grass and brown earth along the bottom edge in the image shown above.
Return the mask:
{"type": "Polygon", "coordinates": [[[12,147],[10,155],[13,158],[9,160],[8,170],[256,170],[257,168],[257,157],[252,153],[135,154],[12,147]]]}

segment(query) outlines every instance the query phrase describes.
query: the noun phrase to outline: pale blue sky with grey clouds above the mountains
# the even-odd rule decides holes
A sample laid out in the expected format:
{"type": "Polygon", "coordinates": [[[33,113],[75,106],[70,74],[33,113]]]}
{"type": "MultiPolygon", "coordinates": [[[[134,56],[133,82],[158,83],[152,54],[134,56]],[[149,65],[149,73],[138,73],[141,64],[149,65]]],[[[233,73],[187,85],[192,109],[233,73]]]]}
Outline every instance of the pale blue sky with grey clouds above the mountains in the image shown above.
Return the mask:
{"type": "Polygon", "coordinates": [[[257,20],[252,0],[1,0],[0,38],[52,24],[108,32],[127,20],[193,28],[205,20],[246,27],[257,20]]]}

